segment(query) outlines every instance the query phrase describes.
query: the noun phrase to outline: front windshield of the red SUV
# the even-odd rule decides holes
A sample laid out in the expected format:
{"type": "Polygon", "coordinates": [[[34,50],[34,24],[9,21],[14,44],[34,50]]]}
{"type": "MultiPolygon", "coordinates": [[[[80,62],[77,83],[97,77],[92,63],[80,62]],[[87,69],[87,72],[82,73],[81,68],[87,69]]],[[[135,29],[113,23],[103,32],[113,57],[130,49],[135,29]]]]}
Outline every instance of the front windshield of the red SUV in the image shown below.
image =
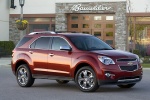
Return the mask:
{"type": "Polygon", "coordinates": [[[95,36],[70,36],[76,48],[83,51],[112,50],[113,48],[95,36]]]}

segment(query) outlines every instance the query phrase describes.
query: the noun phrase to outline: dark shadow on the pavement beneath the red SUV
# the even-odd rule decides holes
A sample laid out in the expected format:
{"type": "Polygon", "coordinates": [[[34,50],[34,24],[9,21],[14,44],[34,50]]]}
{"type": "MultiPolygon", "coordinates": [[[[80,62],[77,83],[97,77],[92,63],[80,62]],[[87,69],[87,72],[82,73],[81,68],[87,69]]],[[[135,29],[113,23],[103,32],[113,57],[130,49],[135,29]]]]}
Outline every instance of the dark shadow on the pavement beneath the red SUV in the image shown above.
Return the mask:
{"type": "MultiPolygon", "coordinates": [[[[43,89],[56,89],[56,90],[66,90],[66,91],[76,91],[79,92],[79,88],[77,87],[77,85],[74,82],[69,82],[67,84],[59,84],[57,82],[50,82],[50,83],[35,83],[32,88],[43,88],[43,89]]],[[[106,85],[106,86],[100,86],[97,91],[95,91],[94,93],[111,93],[111,92],[134,92],[134,91],[138,91],[139,88],[137,87],[133,87],[133,88],[119,88],[115,85],[106,85]]],[[[93,93],[93,92],[92,92],[93,93]]]]}

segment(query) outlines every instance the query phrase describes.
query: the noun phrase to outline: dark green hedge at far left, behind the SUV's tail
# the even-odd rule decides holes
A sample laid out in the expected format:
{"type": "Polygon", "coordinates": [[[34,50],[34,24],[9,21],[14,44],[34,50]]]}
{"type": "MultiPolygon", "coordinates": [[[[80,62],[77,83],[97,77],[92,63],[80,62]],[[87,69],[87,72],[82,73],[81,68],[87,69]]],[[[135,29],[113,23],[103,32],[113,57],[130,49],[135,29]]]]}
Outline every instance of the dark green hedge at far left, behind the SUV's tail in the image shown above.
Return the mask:
{"type": "Polygon", "coordinates": [[[0,41],[0,57],[12,54],[15,44],[12,41],[0,41]]]}

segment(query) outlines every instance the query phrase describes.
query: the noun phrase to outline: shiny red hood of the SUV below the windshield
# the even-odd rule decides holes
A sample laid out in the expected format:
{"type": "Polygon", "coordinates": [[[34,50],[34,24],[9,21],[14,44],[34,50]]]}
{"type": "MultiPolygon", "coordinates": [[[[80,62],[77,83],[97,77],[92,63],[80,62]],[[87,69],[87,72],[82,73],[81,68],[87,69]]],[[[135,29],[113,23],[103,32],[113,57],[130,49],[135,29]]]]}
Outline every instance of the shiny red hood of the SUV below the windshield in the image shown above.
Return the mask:
{"type": "Polygon", "coordinates": [[[97,53],[99,55],[108,56],[108,57],[122,57],[122,58],[135,58],[136,55],[127,51],[121,50],[96,50],[92,51],[93,53],[97,53]]]}

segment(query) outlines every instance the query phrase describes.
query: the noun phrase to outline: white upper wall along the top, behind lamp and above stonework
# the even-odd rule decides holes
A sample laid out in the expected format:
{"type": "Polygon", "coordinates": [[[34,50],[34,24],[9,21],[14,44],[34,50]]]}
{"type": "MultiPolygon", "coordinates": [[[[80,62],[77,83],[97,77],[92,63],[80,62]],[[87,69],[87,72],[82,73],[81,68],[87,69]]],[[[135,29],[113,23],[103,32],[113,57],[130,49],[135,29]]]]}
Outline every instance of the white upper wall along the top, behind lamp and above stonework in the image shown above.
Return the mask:
{"type": "MultiPolygon", "coordinates": [[[[0,2],[5,1],[1,0],[0,2]]],[[[24,14],[53,14],[55,3],[74,2],[116,2],[128,0],[25,0],[24,14]]],[[[150,12],[150,0],[130,0],[131,12],[150,12]],[[140,5],[140,6],[139,6],[140,5]]],[[[20,14],[19,0],[15,0],[16,9],[10,9],[10,14],[20,14]]],[[[128,11],[128,10],[127,10],[128,11]]]]}

